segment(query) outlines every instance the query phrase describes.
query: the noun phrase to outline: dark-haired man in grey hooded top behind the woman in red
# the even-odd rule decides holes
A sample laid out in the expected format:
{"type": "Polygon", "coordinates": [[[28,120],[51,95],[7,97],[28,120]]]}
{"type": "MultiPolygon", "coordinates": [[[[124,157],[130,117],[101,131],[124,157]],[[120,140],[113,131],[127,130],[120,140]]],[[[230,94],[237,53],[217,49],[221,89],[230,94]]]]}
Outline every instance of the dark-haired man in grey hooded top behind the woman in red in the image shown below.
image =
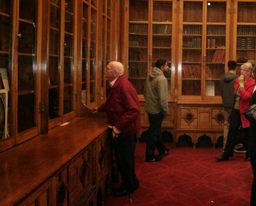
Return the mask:
{"type": "Polygon", "coordinates": [[[227,142],[227,133],[228,133],[228,126],[229,126],[228,119],[229,119],[233,102],[234,102],[234,83],[235,83],[235,79],[238,77],[235,71],[236,61],[229,60],[227,63],[227,66],[228,66],[228,72],[223,74],[219,79],[224,118],[225,118],[224,130],[223,130],[223,149],[225,148],[225,145],[227,142]]]}

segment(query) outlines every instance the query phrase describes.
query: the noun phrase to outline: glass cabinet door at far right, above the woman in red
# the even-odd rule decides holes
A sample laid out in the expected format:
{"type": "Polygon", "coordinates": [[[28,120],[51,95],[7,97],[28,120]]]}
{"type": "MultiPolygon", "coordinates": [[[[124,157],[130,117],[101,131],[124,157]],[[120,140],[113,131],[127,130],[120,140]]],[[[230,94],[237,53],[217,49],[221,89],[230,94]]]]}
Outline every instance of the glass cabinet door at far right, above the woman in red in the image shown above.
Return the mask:
{"type": "Polygon", "coordinates": [[[255,64],[256,39],[256,3],[251,1],[238,1],[237,28],[236,28],[236,62],[237,74],[240,75],[240,66],[244,62],[255,64]]]}

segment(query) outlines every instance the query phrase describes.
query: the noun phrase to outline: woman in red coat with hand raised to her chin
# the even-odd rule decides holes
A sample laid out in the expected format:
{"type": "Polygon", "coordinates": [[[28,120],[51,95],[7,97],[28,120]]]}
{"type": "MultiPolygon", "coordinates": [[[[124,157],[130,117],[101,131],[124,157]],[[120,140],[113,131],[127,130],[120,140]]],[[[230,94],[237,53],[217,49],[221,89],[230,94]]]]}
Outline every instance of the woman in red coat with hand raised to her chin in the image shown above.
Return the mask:
{"type": "MultiPolygon", "coordinates": [[[[235,140],[237,138],[238,129],[242,126],[244,135],[248,137],[248,129],[250,122],[245,118],[243,112],[249,106],[249,100],[255,85],[254,80],[250,77],[252,65],[246,62],[241,65],[241,75],[236,79],[234,84],[234,104],[230,114],[230,125],[228,127],[227,143],[221,156],[216,157],[217,161],[228,160],[233,156],[235,140]]],[[[245,161],[250,160],[248,149],[246,147],[245,161]]]]}

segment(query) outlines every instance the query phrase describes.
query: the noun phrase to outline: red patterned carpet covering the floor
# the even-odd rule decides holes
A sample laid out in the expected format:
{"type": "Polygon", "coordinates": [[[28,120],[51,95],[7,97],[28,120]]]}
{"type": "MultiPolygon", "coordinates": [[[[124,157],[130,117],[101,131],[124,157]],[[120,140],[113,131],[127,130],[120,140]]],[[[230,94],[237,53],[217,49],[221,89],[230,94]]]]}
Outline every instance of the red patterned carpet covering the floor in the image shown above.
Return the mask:
{"type": "Polygon", "coordinates": [[[172,148],[159,162],[145,162],[146,143],[136,145],[136,174],[140,187],[128,197],[113,197],[119,185],[106,194],[104,205],[189,206],[249,205],[252,170],[243,153],[229,161],[216,162],[222,149],[172,148]]]}

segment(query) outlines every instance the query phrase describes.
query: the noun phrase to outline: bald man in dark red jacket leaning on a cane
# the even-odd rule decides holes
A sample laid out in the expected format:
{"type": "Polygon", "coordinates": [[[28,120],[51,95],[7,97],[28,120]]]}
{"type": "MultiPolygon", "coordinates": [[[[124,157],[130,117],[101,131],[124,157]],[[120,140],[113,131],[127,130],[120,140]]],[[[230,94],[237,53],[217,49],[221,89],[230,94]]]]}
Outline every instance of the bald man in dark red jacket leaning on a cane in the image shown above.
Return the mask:
{"type": "Polygon", "coordinates": [[[138,94],[134,85],[124,78],[123,65],[111,61],[104,69],[104,77],[109,81],[107,99],[95,112],[106,111],[109,127],[112,129],[113,148],[116,163],[122,178],[114,196],[124,196],[139,187],[135,174],[136,134],[141,126],[138,94]]]}

